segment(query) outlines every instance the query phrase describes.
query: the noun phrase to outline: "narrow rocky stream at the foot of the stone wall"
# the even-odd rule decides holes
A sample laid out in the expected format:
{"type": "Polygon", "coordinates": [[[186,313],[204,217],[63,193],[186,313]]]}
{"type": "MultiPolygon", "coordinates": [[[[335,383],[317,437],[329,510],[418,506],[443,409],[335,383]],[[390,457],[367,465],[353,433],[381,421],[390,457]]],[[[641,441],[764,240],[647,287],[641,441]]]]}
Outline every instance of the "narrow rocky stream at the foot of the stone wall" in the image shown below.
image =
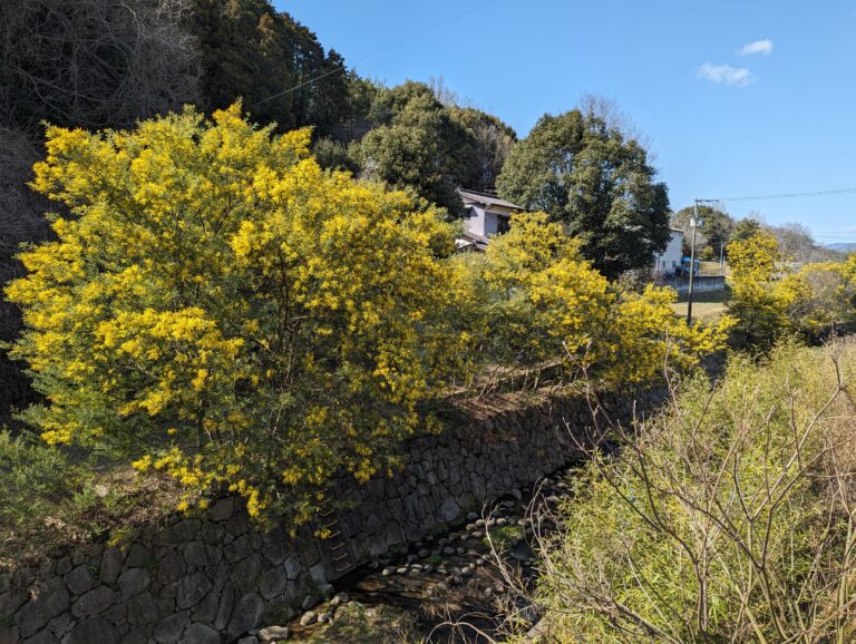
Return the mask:
{"type": "MultiPolygon", "coordinates": [[[[573,466],[571,466],[573,467],[573,466]]],[[[342,609],[342,598],[353,606],[364,607],[368,614],[392,613],[406,616],[408,633],[431,644],[460,642],[481,643],[490,638],[502,640],[507,618],[514,614],[533,624],[539,615],[518,593],[512,592],[496,555],[502,553],[505,574],[519,579],[528,591],[537,579],[537,560],[533,552],[533,494],[535,507],[546,504],[555,507],[568,495],[564,481],[567,470],[542,479],[535,486],[521,487],[485,508],[484,516],[469,513],[464,521],[445,526],[444,531],[412,544],[406,552],[387,554],[369,566],[356,569],[335,583],[339,601],[331,606],[325,602],[312,608],[327,622],[337,621],[342,609]],[[490,541],[486,535],[489,531],[490,541]]],[[[541,530],[552,525],[541,520],[541,530]]],[[[354,607],[351,606],[351,609],[354,607]]],[[[305,615],[305,614],[304,614],[305,615]]],[[[301,625],[303,616],[288,624],[295,642],[348,642],[339,640],[329,624],[314,622],[301,625]]],[[[519,624],[518,624],[519,628],[519,624]]],[[[353,635],[356,637],[357,635],[353,635]]],[[[393,633],[360,642],[400,642],[393,633]]]]}

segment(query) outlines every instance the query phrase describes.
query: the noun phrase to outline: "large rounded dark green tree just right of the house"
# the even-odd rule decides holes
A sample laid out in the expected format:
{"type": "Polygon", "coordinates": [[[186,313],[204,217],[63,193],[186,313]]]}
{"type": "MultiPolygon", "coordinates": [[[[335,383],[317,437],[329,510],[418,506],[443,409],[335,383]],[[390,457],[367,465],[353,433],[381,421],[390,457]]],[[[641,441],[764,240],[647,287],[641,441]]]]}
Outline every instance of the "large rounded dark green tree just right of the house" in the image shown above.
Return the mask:
{"type": "Polygon", "coordinates": [[[499,194],[544,211],[610,277],[651,265],[669,242],[669,197],[648,154],[620,127],[578,109],[545,115],[508,155],[499,194]]]}

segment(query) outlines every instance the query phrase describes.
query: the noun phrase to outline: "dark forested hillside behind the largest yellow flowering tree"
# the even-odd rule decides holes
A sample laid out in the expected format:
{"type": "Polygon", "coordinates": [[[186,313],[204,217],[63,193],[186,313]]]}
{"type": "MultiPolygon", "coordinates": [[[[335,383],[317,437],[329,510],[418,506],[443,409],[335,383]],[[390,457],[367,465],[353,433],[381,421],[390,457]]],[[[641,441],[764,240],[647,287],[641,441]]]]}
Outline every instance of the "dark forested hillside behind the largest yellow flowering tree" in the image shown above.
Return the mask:
{"type": "MultiPolygon", "coordinates": [[[[440,89],[440,90],[438,90],[440,89]]],[[[409,187],[450,212],[459,185],[493,188],[516,135],[427,84],[387,88],[266,0],[9,0],[0,9],[0,283],[22,275],[22,242],[50,235],[56,209],[28,187],[45,124],[88,130],[235,100],[279,131],[313,128],[323,167],[409,187]],[[444,99],[440,103],[439,99],[444,99]],[[371,133],[370,136],[366,136],[371,133]]],[[[0,304],[0,340],[20,316],[0,304]]],[[[0,407],[30,390],[0,357],[0,407]]]]}

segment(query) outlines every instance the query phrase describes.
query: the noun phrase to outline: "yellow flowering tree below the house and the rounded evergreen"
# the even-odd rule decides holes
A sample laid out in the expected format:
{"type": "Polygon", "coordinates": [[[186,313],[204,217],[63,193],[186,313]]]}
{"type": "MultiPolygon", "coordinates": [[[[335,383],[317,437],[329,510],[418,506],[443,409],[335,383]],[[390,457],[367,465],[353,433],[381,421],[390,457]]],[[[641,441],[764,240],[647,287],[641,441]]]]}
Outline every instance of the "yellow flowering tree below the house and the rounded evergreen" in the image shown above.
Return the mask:
{"type": "Polygon", "coordinates": [[[671,306],[673,290],[633,293],[609,282],[544,213],[516,216],[490,243],[480,280],[495,311],[495,355],[518,365],[565,355],[603,381],[654,378],[667,354],[672,367],[693,367],[732,324],[688,326],[671,306]]]}

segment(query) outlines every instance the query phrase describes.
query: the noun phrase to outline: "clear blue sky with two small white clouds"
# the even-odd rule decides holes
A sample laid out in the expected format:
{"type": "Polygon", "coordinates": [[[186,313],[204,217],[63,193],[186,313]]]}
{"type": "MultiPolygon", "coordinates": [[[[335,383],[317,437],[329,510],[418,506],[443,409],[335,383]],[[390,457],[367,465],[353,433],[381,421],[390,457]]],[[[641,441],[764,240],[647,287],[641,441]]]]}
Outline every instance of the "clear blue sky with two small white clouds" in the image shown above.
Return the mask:
{"type": "MultiPolygon", "coordinates": [[[[582,95],[615,100],[646,135],[675,209],[856,188],[856,0],[274,4],[361,75],[441,75],[521,137],[582,95]]],[[[726,206],[856,242],[854,193],[726,206]]]]}

